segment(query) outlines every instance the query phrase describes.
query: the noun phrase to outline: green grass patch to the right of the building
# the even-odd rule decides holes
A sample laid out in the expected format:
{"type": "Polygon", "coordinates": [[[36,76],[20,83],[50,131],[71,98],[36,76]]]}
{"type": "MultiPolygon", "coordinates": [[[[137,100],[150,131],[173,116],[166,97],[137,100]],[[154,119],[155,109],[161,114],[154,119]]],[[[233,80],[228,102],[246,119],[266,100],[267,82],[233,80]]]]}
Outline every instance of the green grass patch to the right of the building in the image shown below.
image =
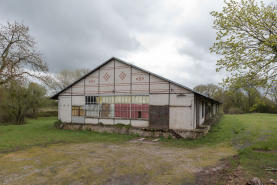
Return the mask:
{"type": "Polygon", "coordinates": [[[266,167],[277,168],[277,115],[224,115],[218,125],[195,140],[163,139],[169,146],[233,146],[238,149],[240,165],[253,176],[276,178],[266,167]]]}

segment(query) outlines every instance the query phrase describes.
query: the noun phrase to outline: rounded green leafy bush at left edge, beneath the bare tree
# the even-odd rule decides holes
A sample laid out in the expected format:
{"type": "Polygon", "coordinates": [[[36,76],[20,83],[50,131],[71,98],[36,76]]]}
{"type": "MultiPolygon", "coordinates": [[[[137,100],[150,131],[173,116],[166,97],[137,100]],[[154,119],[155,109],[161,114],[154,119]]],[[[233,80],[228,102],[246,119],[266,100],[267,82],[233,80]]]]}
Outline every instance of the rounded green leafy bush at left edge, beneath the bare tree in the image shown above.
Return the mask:
{"type": "Polygon", "coordinates": [[[36,83],[22,86],[12,82],[1,87],[0,111],[6,121],[16,125],[25,124],[28,113],[37,111],[45,102],[46,89],[36,83]],[[4,113],[4,114],[3,114],[4,113]]]}

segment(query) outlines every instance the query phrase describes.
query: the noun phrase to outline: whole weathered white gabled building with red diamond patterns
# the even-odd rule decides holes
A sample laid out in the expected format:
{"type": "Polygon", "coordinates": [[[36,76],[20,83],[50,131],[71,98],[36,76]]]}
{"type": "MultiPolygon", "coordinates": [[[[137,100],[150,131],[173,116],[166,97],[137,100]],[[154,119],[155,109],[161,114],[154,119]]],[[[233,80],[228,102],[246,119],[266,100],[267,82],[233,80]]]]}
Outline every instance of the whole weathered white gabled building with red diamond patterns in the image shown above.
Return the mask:
{"type": "Polygon", "coordinates": [[[218,110],[205,94],[112,57],[51,97],[67,123],[194,130],[218,110]]]}

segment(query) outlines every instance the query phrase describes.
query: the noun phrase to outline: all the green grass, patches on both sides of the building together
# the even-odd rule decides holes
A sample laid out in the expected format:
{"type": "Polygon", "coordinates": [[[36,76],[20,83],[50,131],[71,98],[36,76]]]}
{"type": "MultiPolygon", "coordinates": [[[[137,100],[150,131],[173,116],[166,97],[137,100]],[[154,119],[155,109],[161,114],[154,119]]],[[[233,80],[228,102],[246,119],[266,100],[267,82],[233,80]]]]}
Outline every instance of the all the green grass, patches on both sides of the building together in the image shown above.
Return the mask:
{"type": "MultiPolygon", "coordinates": [[[[0,153],[52,143],[124,143],[134,135],[71,131],[53,128],[56,117],[29,119],[21,126],[0,126],[0,153]]],[[[252,176],[276,178],[266,171],[277,168],[277,115],[224,115],[218,125],[196,140],[162,139],[165,147],[174,148],[236,148],[240,165],[252,176]]],[[[1,155],[0,155],[1,157],[1,155]]]]}

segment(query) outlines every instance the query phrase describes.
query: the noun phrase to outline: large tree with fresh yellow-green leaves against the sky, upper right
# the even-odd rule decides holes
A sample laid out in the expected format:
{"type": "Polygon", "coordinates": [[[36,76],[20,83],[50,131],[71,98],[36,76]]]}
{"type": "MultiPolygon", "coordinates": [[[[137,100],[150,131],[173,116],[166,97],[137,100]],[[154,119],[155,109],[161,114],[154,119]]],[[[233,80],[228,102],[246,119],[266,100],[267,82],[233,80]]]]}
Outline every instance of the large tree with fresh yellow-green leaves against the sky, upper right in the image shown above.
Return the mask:
{"type": "Polygon", "coordinates": [[[255,81],[255,86],[271,88],[277,78],[276,6],[254,0],[224,2],[222,12],[211,12],[218,31],[217,42],[210,48],[222,56],[216,70],[231,72],[223,85],[244,87],[255,81]]]}

